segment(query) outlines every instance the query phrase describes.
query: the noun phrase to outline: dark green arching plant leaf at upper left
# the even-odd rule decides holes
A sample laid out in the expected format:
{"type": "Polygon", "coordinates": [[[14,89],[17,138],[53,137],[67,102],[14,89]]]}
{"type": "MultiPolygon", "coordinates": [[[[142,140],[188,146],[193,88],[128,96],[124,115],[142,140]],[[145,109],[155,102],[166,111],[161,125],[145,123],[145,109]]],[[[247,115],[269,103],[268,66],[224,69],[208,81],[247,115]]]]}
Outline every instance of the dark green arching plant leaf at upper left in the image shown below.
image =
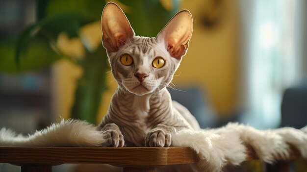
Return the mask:
{"type": "MultiPolygon", "coordinates": [[[[40,40],[41,44],[53,45],[53,48],[55,48],[56,39],[59,33],[65,32],[70,37],[76,37],[78,36],[78,30],[80,29],[82,25],[85,25],[85,24],[88,24],[94,21],[95,21],[94,19],[87,17],[87,16],[80,15],[78,13],[62,13],[62,14],[51,16],[51,17],[46,17],[45,19],[42,19],[38,23],[29,26],[20,35],[17,41],[17,44],[16,44],[15,61],[16,61],[17,69],[21,68],[20,67],[21,58],[27,57],[26,55],[22,56],[21,53],[29,49],[29,47],[31,46],[31,43],[35,43],[33,40],[40,40]]],[[[51,50],[51,46],[49,47],[45,46],[43,48],[46,49],[46,51],[51,50]]],[[[58,56],[62,56],[59,53],[57,54],[58,56]]],[[[43,55],[48,57],[50,54],[44,53],[43,55]]],[[[52,55],[54,55],[54,53],[52,53],[52,55]]],[[[35,58],[39,58],[39,57],[35,57],[35,58]]],[[[51,57],[51,59],[53,59],[53,57],[51,57]]],[[[23,65],[26,65],[26,64],[23,64],[23,65]]]]}

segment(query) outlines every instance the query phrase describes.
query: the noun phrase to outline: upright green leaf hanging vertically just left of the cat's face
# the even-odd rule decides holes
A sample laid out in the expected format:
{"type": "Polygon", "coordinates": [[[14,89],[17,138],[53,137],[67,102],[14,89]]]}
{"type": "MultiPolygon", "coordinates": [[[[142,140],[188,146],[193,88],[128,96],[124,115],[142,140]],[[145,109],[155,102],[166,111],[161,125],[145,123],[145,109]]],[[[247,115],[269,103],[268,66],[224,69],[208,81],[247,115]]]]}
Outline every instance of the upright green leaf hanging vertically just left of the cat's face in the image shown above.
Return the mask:
{"type": "Polygon", "coordinates": [[[72,118],[96,123],[102,93],[106,89],[105,72],[108,70],[106,51],[100,46],[89,52],[82,63],[83,75],[77,82],[72,118]]]}

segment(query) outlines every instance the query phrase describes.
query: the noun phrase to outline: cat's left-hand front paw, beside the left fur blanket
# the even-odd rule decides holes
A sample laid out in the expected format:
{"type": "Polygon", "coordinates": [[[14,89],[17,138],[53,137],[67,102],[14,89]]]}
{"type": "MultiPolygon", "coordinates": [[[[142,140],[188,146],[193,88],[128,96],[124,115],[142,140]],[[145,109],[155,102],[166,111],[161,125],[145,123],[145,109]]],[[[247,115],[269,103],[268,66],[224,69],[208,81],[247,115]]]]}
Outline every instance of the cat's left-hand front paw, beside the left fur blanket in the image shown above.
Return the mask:
{"type": "Polygon", "coordinates": [[[120,131],[109,129],[102,131],[102,135],[105,139],[102,147],[123,147],[125,144],[124,136],[120,131]]]}

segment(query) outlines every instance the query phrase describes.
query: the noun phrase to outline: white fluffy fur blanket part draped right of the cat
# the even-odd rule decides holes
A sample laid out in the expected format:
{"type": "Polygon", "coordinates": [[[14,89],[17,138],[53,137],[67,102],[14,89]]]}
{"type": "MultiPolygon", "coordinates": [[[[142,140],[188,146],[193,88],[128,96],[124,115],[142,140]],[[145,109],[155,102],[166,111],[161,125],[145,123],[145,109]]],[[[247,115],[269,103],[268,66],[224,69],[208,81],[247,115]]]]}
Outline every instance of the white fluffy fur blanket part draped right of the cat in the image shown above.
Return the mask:
{"type": "Polygon", "coordinates": [[[219,172],[226,164],[239,165],[247,157],[249,145],[257,156],[268,163],[274,157],[288,158],[289,145],[296,147],[307,158],[307,133],[291,127],[274,130],[257,130],[237,123],[217,129],[199,131],[182,130],[173,136],[174,147],[192,147],[199,155],[200,170],[219,172]]]}

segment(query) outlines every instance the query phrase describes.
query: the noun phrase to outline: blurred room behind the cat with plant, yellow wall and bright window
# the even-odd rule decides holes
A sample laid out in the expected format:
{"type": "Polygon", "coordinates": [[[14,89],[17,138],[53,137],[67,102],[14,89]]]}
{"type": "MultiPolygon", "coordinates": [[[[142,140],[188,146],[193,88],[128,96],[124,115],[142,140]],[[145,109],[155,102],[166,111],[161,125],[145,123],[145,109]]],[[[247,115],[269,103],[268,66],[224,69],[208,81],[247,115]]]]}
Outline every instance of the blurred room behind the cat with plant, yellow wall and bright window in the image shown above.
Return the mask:
{"type": "MultiPolygon", "coordinates": [[[[192,39],[169,91],[203,128],[307,124],[307,1],[113,1],[140,36],[190,10],[192,39]]],[[[101,45],[106,2],[0,0],[0,127],[101,122],[117,87],[101,45]]]]}

